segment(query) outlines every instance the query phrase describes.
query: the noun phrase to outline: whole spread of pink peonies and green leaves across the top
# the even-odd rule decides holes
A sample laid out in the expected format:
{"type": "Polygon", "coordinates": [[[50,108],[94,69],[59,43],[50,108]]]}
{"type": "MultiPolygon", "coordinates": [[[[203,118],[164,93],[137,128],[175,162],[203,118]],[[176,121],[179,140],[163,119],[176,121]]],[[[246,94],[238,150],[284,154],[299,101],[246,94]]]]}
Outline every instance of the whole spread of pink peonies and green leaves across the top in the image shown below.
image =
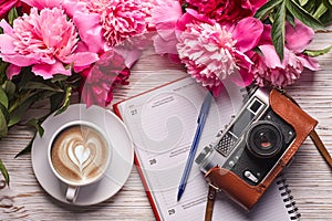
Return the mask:
{"type": "MultiPolygon", "coordinates": [[[[330,50],[307,46],[331,8],[326,0],[0,0],[0,138],[40,101],[50,112],[24,124],[41,135],[43,119],[64,112],[74,92],[87,107],[107,106],[149,45],[215,96],[226,78],[284,87],[330,50]]],[[[9,181],[1,160],[0,170],[9,181]]]]}

